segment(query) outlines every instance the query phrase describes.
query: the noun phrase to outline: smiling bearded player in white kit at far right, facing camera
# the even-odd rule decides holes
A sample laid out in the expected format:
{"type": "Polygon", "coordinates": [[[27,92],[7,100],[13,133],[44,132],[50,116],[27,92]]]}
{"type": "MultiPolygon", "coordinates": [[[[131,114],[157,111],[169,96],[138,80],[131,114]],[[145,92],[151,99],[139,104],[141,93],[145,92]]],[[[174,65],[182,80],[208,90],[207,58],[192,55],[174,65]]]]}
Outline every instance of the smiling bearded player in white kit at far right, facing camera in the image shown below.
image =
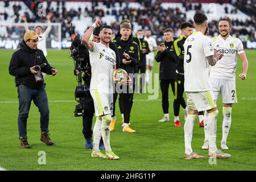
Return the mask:
{"type": "MultiPolygon", "coordinates": [[[[220,22],[218,22],[218,31],[220,32],[220,35],[212,38],[213,48],[224,54],[223,59],[218,61],[216,65],[210,69],[210,84],[212,85],[215,99],[218,100],[218,97],[222,94],[222,150],[229,149],[226,145],[226,139],[228,138],[232,121],[232,105],[233,103],[237,103],[236,69],[238,56],[242,60],[243,67],[243,71],[239,75],[241,80],[246,79],[248,69],[248,61],[245,51],[243,50],[243,44],[240,39],[230,35],[231,29],[231,20],[229,18],[222,18],[220,22]]],[[[205,142],[202,148],[208,149],[207,133],[205,133],[205,142]]]]}

